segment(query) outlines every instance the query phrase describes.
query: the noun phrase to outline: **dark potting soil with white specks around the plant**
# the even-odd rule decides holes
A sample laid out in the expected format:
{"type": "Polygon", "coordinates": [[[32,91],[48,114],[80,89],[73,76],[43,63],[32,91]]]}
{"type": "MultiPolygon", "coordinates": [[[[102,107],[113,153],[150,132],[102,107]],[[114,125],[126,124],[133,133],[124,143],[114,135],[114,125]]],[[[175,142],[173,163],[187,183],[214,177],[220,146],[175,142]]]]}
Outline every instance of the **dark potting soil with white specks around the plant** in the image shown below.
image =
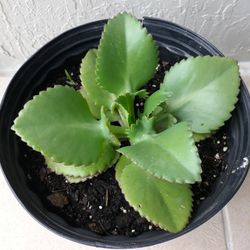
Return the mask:
{"type": "MultiPolygon", "coordinates": [[[[159,89],[164,72],[169,68],[168,63],[161,62],[154,78],[147,84],[150,94],[159,89]]],[[[78,68],[73,65],[67,70],[76,82],[74,88],[79,89],[78,68]]],[[[72,85],[72,82],[61,72],[48,86],[55,84],[72,85]]],[[[142,111],[143,105],[143,99],[137,97],[135,108],[142,111]]],[[[56,175],[47,168],[40,153],[21,141],[19,143],[19,158],[30,188],[51,211],[61,215],[69,224],[100,235],[136,236],[145,231],[160,230],[129,206],[115,180],[113,167],[85,182],[70,184],[62,175],[56,175]]],[[[202,181],[192,185],[193,213],[212,192],[217,177],[226,166],[224,159],[228,146],[225,129],[222,128],[213,137],[196,145],[202,160],[203,173],[202,181]]]]}

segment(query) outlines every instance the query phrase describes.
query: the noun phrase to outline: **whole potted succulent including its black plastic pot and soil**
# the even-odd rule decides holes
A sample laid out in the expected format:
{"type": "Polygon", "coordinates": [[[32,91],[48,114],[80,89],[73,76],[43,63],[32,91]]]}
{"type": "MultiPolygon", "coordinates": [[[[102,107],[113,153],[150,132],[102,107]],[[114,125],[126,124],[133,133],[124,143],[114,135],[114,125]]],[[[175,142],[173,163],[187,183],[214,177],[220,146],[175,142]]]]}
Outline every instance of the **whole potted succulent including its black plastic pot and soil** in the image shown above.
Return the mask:
{"type": "MultiPolygon", "coordinates": [[[[146,86],[159,67],[156,42],[139,21],[128,14],[119,14],[105,25],[98,49],[95,47],[99,42],[103,22],[93,24],[93,29],[89,29],[88,25],[83,26],[83,33],[80,30],[78,32],[78,29],[69,31],[48,44],[20,69],[10,84],[2,105],[1,115],[4,120],[1,119],[1,133],[4,133],[5,128],[8,135],[3,136],[6,139],[1,143],[4,143],[9,151],[16,153],[13,159],[9,153],[1,152],[3,169],[10,184],[23,204],[38,219],[66,237],[80,242],[106,247],[131,247],[177,237],[221,209],[239,188],[247,172],[249,143],[242,140],[242,147],[232,145],[232,140],[240,141],[244,133],[248,132],[249,98],[243,84],[240,92],[241,103],[236,109],[237,119],[233,118],[227,127],[224,126],[221,137],[214,136],[231,117],[237,102],[240,87],[237,63],[221,57],[213,46],[191,32],[186,31],[183,35],[183,29],[178,26],[150,19],[148,22],[151,23],[149,31],[154,26],[172,26],[166,30],[162,29],[167,38],[170,31],[173,34],[179,33],[179,36],[176,36],[178,39],[171,34],[168,42],[164,41],[162,34],[155,36],[160,47],[163,64],[161,67],[164,69],[164,64],[166,69],[170,67],[165,76],[163,74],[164,79],[157,81],[155,77],[156,84],[146,86]],[[96,31],[98,38],[90,43],[96,31]],[[86,38],[86,34],[89,34],[89,37],[86,38]],[[192,46],[187,46],[184,42],[192,46]],[[167,49],[164,50],[164,47],[167,49]],[[55,48],[57,52],[54,52],[55,48]],[[53,55],[48,56],[50,53],[53,55]],[[58,68],[67,68],[65,65],[72,64],[70,60],[79,58],[82,54],[86,55],[80,67],[81,86],[75,84],[75,80],[66,71],[67,81],[63,82],[63,85],[76,85],[74,89],[72,86],[57,84],[47,88],[47,84],[50,84],[48,79],[51,81],[51,76],[58,68]],[[190,55],[209,54],[213,56],[180,60],[190,55]],[[40,64],[41,58],[46,58],[46,62],[40,64]],[[168,60],[169,64],[166,64],[165,60],[168,60]],[[33,70],[28,67],[31,65],[33,70]],[[17,87],[20,81],[25,82],[21,91],[19,86],[17,87]],[[34,83],[35,81],[37,83],[34,83]],[[10,99],[13,93],[16,100],[10,105],[10,102],[13,102],[13,99],[10,99]],[[10,114],[8,117],[7,109],[10,114]],[[10,131],[10,127],[43,157],[38,157],[33,150],[31,154],[27,153],[29,149],[10,131]],[[196,199],[195,188],[201,183],[202,172],[197,147],[207,145],[200,141],[211,137],[213,139],[210,139],[209,146],[214,145],[214,139],[221,138],[224,140],[223,144],[219,140],[216,143],[221,144],[222,152],[226,153],[230,147],[229,154],[225,157],[218,153],[218,149],[213,151],[216,152],[213,158],[215,168],[222,167],[216,165],[221,158],[227,162],[228,167],[224,172],[218,170],[217,174],[213,174],[216,175],[216,181],[213,181],[208,198],[204,200],[206,197],[199,196],[202,193],[200,192],[196,199]],[[35,160],[32,160],[34,155],[35,160]],[[7,169],[7,162],[12,168],[7,169]],[[46,194],[46,202],[49,201],[53,208],[42,204],[25,185],[25,170],[23,172],[21,168],[16,169],[19,165],[27,166],[31,163],[47,165],[47,168],[39,169],[38,175],[30,176],[30,172],[26,172],[26,176],[33,178],[32,183],[37,185],[36,190],[40,188],[39,182],[44,179],[46,188],[51,185],[53,188],[65,188],[46,194]],[[152,225],[143,219],[138,222],[147,226],[147,230],[142,231],[151,231],[147,240],[144,233],[136,238],[122,238],[123,244],[120,244],[121,238],[118,236],[103,238],[93,233],[100,233],[98,226],[102,228],[102,234],[119,234],[122,231],[119,225],[114,225],[115,228],[112,225],[103,226],[98,221],[100,214],[105,214],[99,210],[108,211],[104,206],[108,207],[111,195],[114,196],[108,188],[105,193],[100,191],[103,199],[98,208],[96,204],[95,208],[92,208],[90,200],[85,197],[86,190],[94,185],[98,177],[93,179],[93,182],[86,179],[107,171],[111,166],[116,168],[115,177],[129,205],[152,222],[152,225]],[[51,174],[51,171],[55,174],[51,174]],[[228,171],[231,171],[230,175],[228,171]],[[18,183],[13,181],[13,176],[20,178],[18,183]],[[40,177],[38,183],[37,176],[40,177]],[[53,179],[51,176],[56,177],[53,179]],[[195,182],[199,183],[191,187],[195,182]],[[226,190],[228,186],[229,192],[226,190]],[[73,198],[73,201],[70,200],[72,190],[74,196],[77,193],[77,198],[73,198]],[[192,202],[192,190],[195,204],[192,202]],[[28,193],[32,197],[30,201],[27,201],[28,193]],[[223,199],[220,200],[220,197],[223,199]],[[200,202],[192,213],[192,207],[200,202]],[[47,214],[49,209],[63,214],[64,219],[67,214],[71,221],[79,225],[91,220],[87,225],[92,232],[73,227],[56,214],[47,214]],[[81,213],[79,209],[82,209],[81,213]],[[93,215],[92,212],[86,211],[91,209],[95,210],[93,215]],[[154,226],[167,232],[159,231],[154,226]],[[107,228],[110,228],[110,231],[107,231],[107,228]],[[115,230],[116,228],[118,230],[115,230]]],[[[144,24],[147,27],[147,21],[144,21],[144,24]]],[[[152,30],[152,35],[154,32],[152,30]]],[[[52,85],[55,83],[57,82],[52,85]]],[[[199,149],[201,158],[204,156],[203,151],[199,149]]],[[[205,165],[205,160],[202,160],[205,165]]],[[[90,190],[93,191],[92,188],[90,190]]],[[[42,192],[46,193],[47,189],[42,192]]],[[[129,209],[131,213],[135,213],[129,207],[118,209],[122,210],[123,214],[128,213],[129,209]]],[[[109,210],[109,213],[110,211],[114,210],[109,210]]],[[[114,214],[117,215],[117,212],[114,214]]],[[[137,216],[139,219],[139,215],[137,216]]],[[[138,233],[133,228],[129,230],[132,236],[138,233]]]]}

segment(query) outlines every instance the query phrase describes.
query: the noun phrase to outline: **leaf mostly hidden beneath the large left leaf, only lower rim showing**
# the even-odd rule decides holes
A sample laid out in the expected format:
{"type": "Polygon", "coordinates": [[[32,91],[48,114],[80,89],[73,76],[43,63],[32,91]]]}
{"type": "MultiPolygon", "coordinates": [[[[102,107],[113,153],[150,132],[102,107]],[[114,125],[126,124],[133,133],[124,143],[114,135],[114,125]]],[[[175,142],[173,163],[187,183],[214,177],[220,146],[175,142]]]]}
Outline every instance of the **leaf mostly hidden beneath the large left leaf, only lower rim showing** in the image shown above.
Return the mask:
{"type": "MultiPolygon", "coordinates": [[[[96,176],[114,164],[117,160],[118,154],[112,148],[111,145],[104,145],[102,154],[96,163],[92,163],[88,166],[73,166],[65,165],[63,163],[58,163],[50,158],[45,157],[48,168],[54,171],[56,174],[62,174],[64,176],[72,177],[71,180],[76,182],[76,180],[82,181],[91,176],[96,176]],[[79,178],[80,177],[80,178],[79,178]],[[77,178],[77,179],[73,179],[77,178]]],[[[77,181],[78,182],[78,181],[77,181]]]]}

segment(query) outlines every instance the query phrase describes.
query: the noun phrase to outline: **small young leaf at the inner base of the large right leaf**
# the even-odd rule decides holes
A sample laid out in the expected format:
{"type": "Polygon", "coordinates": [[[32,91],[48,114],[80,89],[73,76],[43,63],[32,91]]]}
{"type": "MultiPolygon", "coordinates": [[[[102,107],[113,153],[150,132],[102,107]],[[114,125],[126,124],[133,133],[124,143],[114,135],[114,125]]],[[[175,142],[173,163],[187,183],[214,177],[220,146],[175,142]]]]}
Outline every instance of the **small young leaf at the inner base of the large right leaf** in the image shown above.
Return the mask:
{"type": "Polygon", "coordinates": [[[143,114],[149,116],[161,103],[166,102],[171,97],[171,93],[162,89],[154,92],[146,99],[143,114]]]}

